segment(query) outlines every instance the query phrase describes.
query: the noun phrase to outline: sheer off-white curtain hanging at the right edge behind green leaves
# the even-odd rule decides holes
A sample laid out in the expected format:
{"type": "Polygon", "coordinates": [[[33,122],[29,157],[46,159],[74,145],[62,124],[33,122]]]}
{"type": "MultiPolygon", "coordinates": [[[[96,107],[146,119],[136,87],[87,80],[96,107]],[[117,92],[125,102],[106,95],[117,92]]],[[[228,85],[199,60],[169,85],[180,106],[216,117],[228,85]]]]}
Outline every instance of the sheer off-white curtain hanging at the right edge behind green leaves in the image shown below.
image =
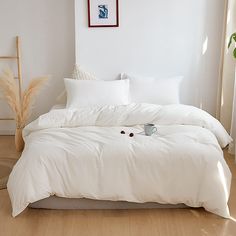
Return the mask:
{"type": "MultiPolygon", "coordinates": [[[[236,150],[236,59],[233,57],[233,45],[227,45],[232,33],[236,32],[236,0],[225,0],[227,3],[227,20],[225,29],[225,50],[223,60],[220,121],[230,132],[234,141],[229,146],[229,152],[236,150]]],[[[236,160],[236,159],[235,159],[236,160]]]]}

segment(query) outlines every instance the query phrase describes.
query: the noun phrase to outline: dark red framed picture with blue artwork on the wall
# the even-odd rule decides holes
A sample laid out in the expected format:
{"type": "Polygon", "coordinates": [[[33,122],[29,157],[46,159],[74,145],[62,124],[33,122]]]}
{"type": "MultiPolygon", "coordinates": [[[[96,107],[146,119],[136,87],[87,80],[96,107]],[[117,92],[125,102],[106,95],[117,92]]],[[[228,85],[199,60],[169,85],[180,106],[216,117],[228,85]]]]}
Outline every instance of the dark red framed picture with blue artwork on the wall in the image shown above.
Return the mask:
{"type": "Polygon", "coordinates": [[[89,27],[118,27],[118,0],[88,0],[89,27]]]}

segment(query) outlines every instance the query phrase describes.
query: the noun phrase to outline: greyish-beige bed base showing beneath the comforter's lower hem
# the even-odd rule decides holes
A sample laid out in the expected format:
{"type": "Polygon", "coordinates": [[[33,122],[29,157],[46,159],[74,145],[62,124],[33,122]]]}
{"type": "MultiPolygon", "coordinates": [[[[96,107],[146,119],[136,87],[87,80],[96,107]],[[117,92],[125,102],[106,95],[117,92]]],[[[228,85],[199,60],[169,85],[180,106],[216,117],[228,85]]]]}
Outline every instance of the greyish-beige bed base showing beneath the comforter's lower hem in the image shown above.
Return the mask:
{"type": "Polygon", "coordinates": [[[98,209],[154,209],[154,208],[188,208],[185,204],[159,204],[155,202],[134,203],[127,201],[102,201],[87,198],[62,198],[51,196],[31,203],[30,208],[63,210],[98,210],[98,209]]]}

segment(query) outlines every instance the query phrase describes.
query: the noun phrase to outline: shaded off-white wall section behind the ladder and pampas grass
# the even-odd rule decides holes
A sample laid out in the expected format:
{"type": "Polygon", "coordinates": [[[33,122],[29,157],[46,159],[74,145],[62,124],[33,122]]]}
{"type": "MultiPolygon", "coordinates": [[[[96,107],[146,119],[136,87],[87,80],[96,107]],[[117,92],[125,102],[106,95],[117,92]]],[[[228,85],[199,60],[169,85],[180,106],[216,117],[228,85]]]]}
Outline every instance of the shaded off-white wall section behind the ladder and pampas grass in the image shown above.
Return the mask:
{"type": "MultiPolygon", "coordinates": [[[[13,54],[14,37],[21,37],[24,86],[35,76],[51,77],[49,86],[37,98],[34,119],[55,103],[62,90],[62,78],[71,74],[75,52],[74,0],[1,0],[0,29],[0,55],[13,54]]],[[[0,62],[1,68],[5,65],[0,62]]],[[[0,102],[0,117],[9,115],[5,103],[0,102]]],[[[0,121],[0,133],[14,130],[13,124],[0,121]]]]}

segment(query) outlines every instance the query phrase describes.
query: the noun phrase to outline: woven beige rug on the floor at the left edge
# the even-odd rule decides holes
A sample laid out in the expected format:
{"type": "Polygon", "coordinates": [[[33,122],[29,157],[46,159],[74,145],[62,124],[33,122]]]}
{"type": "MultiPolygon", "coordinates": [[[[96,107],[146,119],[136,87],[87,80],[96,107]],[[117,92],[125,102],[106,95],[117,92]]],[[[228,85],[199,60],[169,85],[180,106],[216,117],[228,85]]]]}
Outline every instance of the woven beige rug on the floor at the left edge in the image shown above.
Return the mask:
{"type": "Polygon", "coordinates": [[[7,187],[8,177],[15,162],[16,160],[10,158],[0,159],[0,190],[7,187]]]}

